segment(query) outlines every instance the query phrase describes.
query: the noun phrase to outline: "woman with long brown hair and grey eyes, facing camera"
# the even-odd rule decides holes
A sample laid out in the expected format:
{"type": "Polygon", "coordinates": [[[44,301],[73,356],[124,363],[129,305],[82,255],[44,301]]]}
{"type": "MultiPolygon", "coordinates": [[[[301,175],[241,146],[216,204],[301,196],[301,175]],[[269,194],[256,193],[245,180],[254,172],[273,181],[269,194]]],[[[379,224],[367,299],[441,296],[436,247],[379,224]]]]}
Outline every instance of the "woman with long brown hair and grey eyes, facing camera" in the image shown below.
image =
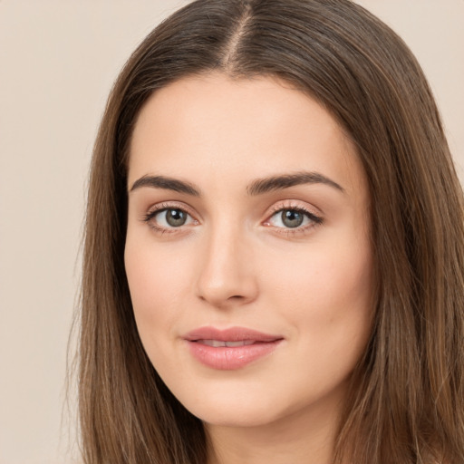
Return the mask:
{"type": "Polygon", "coordinates": [[[462,204],[419,64],[360,6],[173,14],[92,160],[85,462],[462,462],[462,204]]]}

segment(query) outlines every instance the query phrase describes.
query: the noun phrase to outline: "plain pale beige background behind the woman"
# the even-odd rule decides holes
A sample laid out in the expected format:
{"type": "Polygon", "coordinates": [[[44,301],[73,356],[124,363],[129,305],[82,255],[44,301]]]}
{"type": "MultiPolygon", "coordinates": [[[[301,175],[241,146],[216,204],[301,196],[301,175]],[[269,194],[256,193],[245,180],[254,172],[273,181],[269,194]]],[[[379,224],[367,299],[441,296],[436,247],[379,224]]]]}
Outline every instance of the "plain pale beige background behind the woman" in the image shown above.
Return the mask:
{"type": "MultiPolygon", "coordinates": [[[[464,0],[359,2],[418,56],[461,173],[464,0]]],[[[92,143],[121,65],[184,3],[0,0],[1,464],[74,462],[62,412],[92,143]]]]}

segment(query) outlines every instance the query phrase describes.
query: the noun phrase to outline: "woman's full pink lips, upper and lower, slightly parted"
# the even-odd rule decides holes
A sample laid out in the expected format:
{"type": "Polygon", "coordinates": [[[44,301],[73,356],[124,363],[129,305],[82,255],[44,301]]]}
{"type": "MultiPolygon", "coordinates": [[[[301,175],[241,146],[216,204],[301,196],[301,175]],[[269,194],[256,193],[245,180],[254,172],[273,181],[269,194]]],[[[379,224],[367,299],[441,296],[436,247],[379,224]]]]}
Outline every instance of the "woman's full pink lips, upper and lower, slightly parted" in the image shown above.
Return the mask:
{"type": "Polygon", "coordinates": [[[199,362],[212,369],[232,371],[272,353],[284,337],[245,327],[227,330],[200,327],[187,333],[184,339],[199,362]]]}

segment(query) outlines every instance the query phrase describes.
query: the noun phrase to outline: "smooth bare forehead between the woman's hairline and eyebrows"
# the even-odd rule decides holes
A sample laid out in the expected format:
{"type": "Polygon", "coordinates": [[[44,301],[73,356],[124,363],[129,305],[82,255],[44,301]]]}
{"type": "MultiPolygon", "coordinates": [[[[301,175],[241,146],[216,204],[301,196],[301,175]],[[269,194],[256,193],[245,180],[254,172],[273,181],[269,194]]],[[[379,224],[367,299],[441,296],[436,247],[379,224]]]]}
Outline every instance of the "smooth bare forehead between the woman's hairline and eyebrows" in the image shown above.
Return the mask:
{"type": "Polygon", "coordinates": [[[363,182],[353,144],[323,106],[270,77],[212,73],[155,92],[131,140],[129,181],[147,174],[255,179],[323,171],[346,189],[363,182]]]}

